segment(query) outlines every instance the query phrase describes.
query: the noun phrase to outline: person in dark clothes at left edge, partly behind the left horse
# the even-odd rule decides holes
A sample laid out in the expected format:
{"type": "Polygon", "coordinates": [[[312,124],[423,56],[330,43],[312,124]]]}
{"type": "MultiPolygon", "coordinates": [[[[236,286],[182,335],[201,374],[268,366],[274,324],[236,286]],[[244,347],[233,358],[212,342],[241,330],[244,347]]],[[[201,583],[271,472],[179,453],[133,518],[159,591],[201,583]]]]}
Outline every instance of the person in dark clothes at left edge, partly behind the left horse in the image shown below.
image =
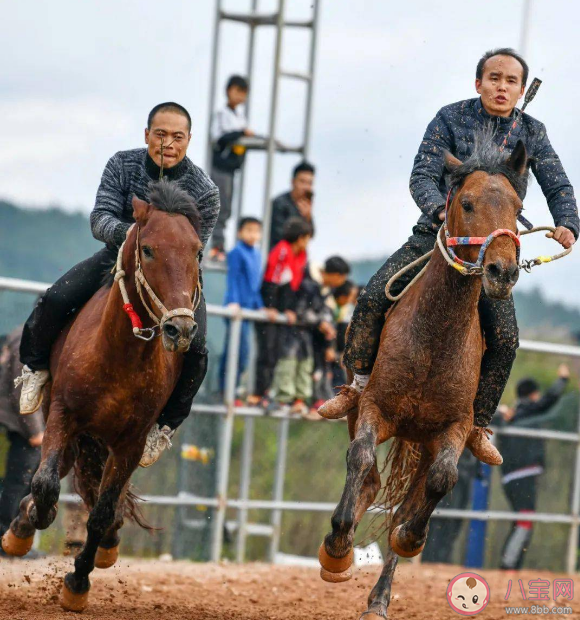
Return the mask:
{"type": "MultiPolygon", "coordinates": [[[[44,433],[42,411],[21,416],[14,378],[22,372],[18,349],[22,328],[4,336],[0,345],[0,425],[10,443],[6,474],[0,495],[0,536],[18,514],[20,501],[30,493],[32,476],[40,463],[40,445],[44,433]]],[[[38,557],[30,551],[27,559],[38,557]]]]}

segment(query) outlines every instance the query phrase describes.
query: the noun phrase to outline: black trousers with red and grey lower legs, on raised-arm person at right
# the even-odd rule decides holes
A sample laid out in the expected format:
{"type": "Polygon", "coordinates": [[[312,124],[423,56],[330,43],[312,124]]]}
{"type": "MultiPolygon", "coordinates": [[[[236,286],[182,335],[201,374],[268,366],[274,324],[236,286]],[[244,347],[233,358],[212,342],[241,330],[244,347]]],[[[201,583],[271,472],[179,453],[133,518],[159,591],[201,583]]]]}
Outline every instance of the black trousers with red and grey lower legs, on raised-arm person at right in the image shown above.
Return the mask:
{"type": "Polygon", "coordinates": [[[536,509],[537,476],[527,476],[504,484],[503,490],[514,512],[522,512],[521,521],[516,521],[506,538],[501,554],[501,568],[519,570],[522,568],[526,551],[532,540],[532,522],[526,521],[526,512],[536,509]]]}

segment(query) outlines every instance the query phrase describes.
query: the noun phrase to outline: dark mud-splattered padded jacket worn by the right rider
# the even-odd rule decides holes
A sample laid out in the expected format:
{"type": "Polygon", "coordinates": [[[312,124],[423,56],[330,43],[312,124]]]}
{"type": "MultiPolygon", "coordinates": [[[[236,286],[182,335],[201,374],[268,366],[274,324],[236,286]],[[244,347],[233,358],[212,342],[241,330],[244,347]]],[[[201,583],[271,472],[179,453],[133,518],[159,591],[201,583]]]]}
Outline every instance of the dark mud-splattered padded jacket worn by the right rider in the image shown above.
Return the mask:
{"type": "MultiPolygon", "coordinates": [[[[512,130],[506,152],[511,152],[522,140],[528,152],[528,167],[538,180],[548,202],[556,226],[569,228],[576,238],[580,228],[574,190],[562,162],[554,151],[546,127],[540,121],[519,110],[518,123],[512,130]]],[[[475,134],[486,123],[496,128],[495,139],[501,144],[508,135],[514,117],[504,118],[488,114],[481,99],[458,101],[441,108],[427,126],[427,131],[415,157],[409,188],[423,214],[419,224],[437,228],[437,218],[445,205],[447,183],[445,178],[445,151],[464,161],[474,148],[475,134]]],[[[523,198],[523,196],[522,196],[523,198]]]]}

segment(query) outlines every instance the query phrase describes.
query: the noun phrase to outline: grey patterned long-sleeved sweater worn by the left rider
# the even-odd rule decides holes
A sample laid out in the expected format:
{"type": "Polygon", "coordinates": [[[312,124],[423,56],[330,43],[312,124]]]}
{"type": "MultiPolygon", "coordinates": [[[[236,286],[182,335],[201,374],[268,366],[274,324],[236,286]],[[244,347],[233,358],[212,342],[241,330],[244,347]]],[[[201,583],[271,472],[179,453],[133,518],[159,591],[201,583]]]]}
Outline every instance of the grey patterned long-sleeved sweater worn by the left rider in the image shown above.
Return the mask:
{"type": "MultiPolygon", "coordinates": [[[[188,157],[164,171],[196,202],[201,215],[201,241],[207,243],[220,211],[219,190],[209,176],[188,157]]],[[[119,247],[133,219],[133,196],[149,198],[149,183],[159,179],[159,167],[147,149],[119,151],[107,162],[91,212],[93,237],[110,247],[119,247]]]]}

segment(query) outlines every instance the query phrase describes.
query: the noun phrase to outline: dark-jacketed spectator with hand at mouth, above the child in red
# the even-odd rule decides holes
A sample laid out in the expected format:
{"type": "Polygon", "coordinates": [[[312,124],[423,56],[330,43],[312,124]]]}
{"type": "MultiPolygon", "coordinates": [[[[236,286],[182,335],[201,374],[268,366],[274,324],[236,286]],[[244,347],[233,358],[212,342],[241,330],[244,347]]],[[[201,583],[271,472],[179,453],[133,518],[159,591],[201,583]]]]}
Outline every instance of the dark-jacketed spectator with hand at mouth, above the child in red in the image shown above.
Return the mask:
{"type": "Polygon", "coordinates": [[[300,162],[292,171],[292,189],[281,194],[272,202],[270,249],[282,240],[284,226],[290,218],[301,218],[310,224],[312,234],[314,234],[312,219],[314,172],[312,164],[306,161],[300,162]]]}

